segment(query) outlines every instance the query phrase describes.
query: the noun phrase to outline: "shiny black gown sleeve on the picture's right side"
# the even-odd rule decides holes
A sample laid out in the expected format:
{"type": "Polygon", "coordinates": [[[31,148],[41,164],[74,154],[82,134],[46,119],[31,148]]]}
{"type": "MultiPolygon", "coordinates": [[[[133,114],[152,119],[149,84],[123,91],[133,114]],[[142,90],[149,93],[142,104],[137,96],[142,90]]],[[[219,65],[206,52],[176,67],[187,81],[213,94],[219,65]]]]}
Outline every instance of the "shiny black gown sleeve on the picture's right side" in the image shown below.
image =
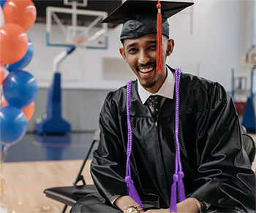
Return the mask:
{"type": "Polygon", "coordinates": [[[214,83],[197,112],[197,179],[190,196],[213,206],[255,212],[255,174],[241,143],[238,115],[225,89],[214,83]]]}

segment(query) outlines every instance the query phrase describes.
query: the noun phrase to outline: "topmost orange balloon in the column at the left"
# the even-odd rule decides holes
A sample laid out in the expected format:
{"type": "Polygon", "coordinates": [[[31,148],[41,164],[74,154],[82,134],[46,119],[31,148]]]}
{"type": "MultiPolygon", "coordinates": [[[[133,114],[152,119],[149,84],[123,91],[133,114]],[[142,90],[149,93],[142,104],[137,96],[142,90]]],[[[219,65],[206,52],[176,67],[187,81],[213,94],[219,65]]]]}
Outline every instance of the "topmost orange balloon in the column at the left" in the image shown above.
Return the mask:
{"type": "Polygon", "coordinates": [[[37,18],[37,8],[31,0],[9,0],[4,4],[5,23],[16,23],[27,31],[37,18]]]}

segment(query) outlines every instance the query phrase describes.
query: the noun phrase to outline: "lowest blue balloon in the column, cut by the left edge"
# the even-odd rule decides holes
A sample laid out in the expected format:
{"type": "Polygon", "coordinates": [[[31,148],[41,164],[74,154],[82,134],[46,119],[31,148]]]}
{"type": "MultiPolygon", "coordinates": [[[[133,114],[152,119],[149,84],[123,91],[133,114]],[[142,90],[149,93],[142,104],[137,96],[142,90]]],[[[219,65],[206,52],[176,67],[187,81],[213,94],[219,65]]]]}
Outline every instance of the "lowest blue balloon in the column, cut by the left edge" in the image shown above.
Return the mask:
{"type": "Polygon", "coordinates": [[[0,143],[18,142],[26,133],[26,117],[16,107],[0,108],[0,143]]]}

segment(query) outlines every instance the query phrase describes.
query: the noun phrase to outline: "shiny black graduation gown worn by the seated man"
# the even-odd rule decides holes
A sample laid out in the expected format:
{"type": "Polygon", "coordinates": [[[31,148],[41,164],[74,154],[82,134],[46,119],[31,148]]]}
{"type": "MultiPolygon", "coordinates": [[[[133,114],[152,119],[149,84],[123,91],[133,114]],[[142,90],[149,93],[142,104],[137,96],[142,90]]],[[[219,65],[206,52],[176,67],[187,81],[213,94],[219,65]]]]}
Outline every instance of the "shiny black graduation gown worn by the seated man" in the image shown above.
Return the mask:
{"type": "MultiPolygon", "coordinates": [[[[99,117],[101,139],[91,175],[103,198],[128,195],[126,87],[108,93],[99,117]]],[[[168,208],[175,165],[175,97],[166,98],[157,125],[132,82],[132,179],[144,206],[168,208]]],[[[255,174],[241,145],[233,101],[217,82],[181,73],[179,144],[187,196],[219,208],[255,211],[255,174]]]]}

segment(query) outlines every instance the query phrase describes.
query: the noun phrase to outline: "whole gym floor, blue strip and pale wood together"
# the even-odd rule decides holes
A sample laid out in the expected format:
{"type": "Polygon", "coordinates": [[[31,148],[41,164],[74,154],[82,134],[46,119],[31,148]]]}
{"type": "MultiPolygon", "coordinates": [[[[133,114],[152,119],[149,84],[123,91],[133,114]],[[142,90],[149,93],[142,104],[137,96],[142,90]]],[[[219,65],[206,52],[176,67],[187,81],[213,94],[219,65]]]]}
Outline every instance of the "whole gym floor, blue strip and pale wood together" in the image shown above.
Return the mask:
{"type": "MultiPolygon", "coordinates": [[[[64,205],[47,198],[43,190],[72,185],[93,135],[94,132],[67,136],[26,134],[10,147],[0,168],[0,207],[12,213],[61,212],[64,205]]],[[[255,134],[251,135],[256,139],[255,134]]],[[[83,170],[88,184],[92,184],[90,163],[88,160],[83,170]]],[[[252,169],[256,170],[256,162],[252,169]]]]}

